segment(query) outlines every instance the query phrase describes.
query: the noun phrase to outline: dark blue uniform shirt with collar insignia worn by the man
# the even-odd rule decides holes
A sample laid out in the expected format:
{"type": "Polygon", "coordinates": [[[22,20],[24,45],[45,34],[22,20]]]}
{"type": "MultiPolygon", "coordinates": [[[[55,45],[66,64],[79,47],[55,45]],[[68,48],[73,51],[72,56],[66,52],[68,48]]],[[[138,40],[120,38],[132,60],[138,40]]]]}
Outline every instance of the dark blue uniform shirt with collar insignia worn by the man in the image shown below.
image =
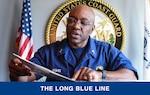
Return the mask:
{"type": "MultiPolygon", "coordinates": [[[[120,50],[106,42],[92,38],[89,38],[89,42],[78,61],[69,47],[67,39],[41,47],[31,61],[69,78],[81,67],[96,70],[97,66],[103,66],[108,71],[120,68],[130,69],[137,76],[136,69],[120,50]]],[[[36,78],[38,79],[40,76],[36,75],[36,78]]]]}

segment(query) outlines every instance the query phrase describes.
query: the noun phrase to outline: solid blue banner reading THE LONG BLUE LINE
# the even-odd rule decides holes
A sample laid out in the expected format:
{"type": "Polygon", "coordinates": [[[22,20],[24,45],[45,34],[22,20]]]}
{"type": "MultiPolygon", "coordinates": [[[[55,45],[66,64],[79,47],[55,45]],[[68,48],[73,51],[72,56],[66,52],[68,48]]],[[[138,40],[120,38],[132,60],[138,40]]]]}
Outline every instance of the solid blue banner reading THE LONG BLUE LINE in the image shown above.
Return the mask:
{"type": "Polygon", "coordinates": [[[1,95],[147,95],[150,82],[1,82],[1,95]]]}

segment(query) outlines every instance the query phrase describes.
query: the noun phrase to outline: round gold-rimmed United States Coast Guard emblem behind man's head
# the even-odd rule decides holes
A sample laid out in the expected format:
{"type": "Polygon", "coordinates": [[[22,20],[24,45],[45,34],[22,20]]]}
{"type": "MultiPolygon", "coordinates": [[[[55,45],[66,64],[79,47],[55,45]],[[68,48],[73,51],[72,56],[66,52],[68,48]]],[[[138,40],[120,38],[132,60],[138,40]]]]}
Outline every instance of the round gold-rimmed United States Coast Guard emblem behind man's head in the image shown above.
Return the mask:
{"type": "Polygon", "coordinates": [[[70,10],[80,4],[92,7],[95,12],[95,30],[90,36],[122,50],[125,40],[124,26],[117,12],[103,0],[68,0],[59,6],[48,21],[46,44],[66,37],[66,18],[70,10]]]}

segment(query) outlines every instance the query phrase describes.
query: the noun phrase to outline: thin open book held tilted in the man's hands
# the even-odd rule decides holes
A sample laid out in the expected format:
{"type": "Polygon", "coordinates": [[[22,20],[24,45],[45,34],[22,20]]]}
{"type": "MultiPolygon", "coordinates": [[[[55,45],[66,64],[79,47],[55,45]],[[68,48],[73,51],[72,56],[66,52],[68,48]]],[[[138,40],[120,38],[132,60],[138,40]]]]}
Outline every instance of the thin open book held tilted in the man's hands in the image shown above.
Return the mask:
{"type": "Polygon", "coordinates": [[[50,69],[47,69],[43,66],[37,65],[31,61],[28,61],[26,59],[21,58],[19,55],[13,53],[13,55],[17,58],[19,58],[25,65],[27,65],[31,71],[43,75],[43,76],[47,76],[48,78],[51,78],[53,80],[57,80],[57,81],[73,81],[70,78],[63,76],[61,74],[58,74],[50,69]]]}

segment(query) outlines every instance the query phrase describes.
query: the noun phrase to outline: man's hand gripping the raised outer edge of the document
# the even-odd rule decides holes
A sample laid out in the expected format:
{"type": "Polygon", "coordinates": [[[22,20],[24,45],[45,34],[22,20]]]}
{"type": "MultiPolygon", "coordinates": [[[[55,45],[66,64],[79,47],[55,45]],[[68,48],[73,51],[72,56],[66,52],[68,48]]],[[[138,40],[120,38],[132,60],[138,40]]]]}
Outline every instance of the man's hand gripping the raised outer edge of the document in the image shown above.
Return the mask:
{"type": "Polygon", "coordinates": [[[30,76],[31,71],[19,59],[14,58],[9,64],[10,80],[17,81],[19,76],[30,76]]]}

